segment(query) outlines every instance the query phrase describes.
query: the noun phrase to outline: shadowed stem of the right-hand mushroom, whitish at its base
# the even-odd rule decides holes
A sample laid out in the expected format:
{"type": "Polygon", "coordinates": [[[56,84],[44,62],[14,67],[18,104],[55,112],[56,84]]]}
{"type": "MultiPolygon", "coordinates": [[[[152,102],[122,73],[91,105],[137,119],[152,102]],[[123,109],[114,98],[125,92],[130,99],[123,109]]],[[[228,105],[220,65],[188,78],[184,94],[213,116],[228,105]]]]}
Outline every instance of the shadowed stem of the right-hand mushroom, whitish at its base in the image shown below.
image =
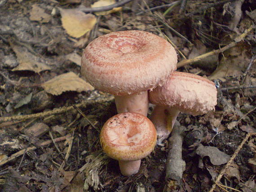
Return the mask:
{"type": "Polygon", "coordinates": [[[150,120],[154,123],[157,132],[157,144],[163,146],[163,140],[172,132],[173,125],[180,111],[175,107],[156,105],[150,120]]]}

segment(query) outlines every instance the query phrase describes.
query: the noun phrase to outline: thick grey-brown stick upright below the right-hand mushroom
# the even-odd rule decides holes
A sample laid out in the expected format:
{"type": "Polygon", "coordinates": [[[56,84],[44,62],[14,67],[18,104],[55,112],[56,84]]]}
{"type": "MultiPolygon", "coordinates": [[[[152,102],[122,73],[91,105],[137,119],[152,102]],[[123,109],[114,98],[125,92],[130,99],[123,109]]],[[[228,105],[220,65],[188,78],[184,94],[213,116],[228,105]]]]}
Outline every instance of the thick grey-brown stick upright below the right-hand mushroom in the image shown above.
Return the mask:
{"type": "Polygon", "coordinates": [[[174,181],[177,185],[181,184],[182,174],[186,163],[182,160],[183,131],[185,127],[174,126],[172,136],[169,138],[169,153],[166,163],[166,181],[174,181]]]}

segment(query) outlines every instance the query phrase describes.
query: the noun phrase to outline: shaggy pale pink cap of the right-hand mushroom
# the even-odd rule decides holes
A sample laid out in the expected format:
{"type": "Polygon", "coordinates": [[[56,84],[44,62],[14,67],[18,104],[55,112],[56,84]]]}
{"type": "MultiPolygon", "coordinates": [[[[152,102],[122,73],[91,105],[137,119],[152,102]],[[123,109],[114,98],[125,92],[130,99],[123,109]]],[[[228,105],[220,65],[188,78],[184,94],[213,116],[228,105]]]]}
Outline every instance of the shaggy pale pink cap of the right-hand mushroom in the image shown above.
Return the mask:
{"type": "Polygon", "coordinates": [[[215,109],[217,90],[208,79],[175,71],[162,87],[149,93],[149,100],[156,105],[176,107],[183,113],[202,115],[215,109]]]}

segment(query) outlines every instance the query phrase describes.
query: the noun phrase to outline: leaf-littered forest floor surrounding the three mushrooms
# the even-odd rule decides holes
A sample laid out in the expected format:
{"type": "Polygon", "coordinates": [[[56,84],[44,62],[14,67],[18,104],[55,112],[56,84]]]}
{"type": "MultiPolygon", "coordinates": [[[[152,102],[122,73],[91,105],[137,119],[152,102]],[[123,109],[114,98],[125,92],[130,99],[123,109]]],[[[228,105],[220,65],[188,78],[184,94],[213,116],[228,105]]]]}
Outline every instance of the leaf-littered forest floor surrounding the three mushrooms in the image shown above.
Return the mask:
{"type": "Polygon", "coordinates": [[[95,2],[0,0],[0,191],[256,192],[255,0],[95,2]],[[126,30],[163,37],[177,71],[216,83],[215,111],[177,118],[180,178],[166,178],[170,140],[130,177],[102,152],[115,101],[84,81],[80,60],[93,39],[126,30]]]}

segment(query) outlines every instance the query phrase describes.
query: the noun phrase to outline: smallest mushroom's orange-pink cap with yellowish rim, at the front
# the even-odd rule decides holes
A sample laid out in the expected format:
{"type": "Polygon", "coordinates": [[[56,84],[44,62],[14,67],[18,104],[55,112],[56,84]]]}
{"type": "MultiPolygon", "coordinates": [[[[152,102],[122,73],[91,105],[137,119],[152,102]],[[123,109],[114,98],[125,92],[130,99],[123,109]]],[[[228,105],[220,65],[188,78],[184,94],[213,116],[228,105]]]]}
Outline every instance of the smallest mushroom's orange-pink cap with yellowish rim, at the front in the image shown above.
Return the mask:
{"type": "Polygon", "coordinates": [[[102,127],[103,151],[118,161],[137,161],[149,155],[156,144],[154,124],[140,113],[119,113],[102,127]]]}

